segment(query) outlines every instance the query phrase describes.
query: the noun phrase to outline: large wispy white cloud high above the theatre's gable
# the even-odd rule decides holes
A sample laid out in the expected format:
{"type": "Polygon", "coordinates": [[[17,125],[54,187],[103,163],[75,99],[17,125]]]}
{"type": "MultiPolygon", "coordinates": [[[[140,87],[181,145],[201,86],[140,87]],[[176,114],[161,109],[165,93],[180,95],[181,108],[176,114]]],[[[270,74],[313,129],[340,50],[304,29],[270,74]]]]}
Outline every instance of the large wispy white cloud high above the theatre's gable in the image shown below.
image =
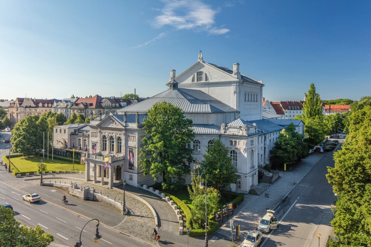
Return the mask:
{"type": "Polygon", "coordinates": [[[161,14],[152,23],[155,27],[170,25],[178,30],[206,30],[209,34],[229,32],[229,29],[214,27],[215,15],[220,10],[212,9],[201,0],[164,0],[164,3],[161,14]]]}

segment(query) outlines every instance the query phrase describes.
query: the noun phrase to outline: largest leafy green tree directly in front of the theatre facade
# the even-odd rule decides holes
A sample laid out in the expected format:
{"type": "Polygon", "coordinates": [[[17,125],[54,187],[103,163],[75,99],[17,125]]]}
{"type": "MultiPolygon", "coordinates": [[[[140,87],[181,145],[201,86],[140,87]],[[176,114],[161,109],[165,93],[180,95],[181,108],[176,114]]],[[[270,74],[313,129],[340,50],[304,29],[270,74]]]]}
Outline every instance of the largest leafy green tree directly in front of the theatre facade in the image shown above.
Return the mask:
{"type": "Polygon", "coordinates": [[[180,178],[190,170],[192,159],[191,141],[194,132],[192,120],[185,118],[182,109],[171,103],[155,103],[144,119],[146,136],[142,139],[138,164],[144,175],[151,174],[157,181],[157,174],[162,175],[162,188],[176,188],[180,178]]]}

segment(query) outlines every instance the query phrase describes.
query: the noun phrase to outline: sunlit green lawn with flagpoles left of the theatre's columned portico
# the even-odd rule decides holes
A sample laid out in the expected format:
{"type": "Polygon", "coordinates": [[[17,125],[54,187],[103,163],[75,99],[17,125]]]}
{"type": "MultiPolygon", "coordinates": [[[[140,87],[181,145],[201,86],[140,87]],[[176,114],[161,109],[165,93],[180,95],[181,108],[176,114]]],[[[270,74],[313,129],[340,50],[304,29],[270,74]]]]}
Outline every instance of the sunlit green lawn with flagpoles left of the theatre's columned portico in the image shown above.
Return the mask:
{"type": "MultiPolygon", "coordinates": [[[[8,157],[9,158],[9,157],[8,157]]],[[[47,171],[69,171],[69,170],[78,170],[78,171],[85,171],[85,165],[76,164],[72,165],[72,162],[68,161],[62,161],[60,159],[54,158],[52,161],[52,157],[49,155],[49,160],[45,157],[45,159],[42,158],[42,156],[30,156],[30,158],[27,157],[16,157],[11,158],[10,161],[12,162],[12,169],[17,169],[22,174],[24,173],[33,173],[37,172],[37,163],[40,163],[40,160],[43,160],[43,164],[47,165],[47,171]]],[[[3,156],[3,160],[7,163],[9,160],[6,158],[6,156],[3,156]]],[[[77,162],[80,162],[77,160],[77,162]]]]}

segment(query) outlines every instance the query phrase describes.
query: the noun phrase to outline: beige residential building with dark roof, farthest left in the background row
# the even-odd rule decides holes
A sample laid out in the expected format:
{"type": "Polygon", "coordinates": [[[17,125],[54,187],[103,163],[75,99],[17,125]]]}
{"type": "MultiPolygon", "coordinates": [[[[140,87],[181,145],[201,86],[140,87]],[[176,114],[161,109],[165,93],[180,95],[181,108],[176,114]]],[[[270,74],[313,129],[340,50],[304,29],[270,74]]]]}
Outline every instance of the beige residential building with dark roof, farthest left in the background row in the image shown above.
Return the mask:
{"type": "Polygon", "coordinates": [[[51,99],[16,98],[8,108],[8,117],[12,121],[12,127],[26,116],[41,116],[45,112],[52,111],[53,104],[51,99]]]}

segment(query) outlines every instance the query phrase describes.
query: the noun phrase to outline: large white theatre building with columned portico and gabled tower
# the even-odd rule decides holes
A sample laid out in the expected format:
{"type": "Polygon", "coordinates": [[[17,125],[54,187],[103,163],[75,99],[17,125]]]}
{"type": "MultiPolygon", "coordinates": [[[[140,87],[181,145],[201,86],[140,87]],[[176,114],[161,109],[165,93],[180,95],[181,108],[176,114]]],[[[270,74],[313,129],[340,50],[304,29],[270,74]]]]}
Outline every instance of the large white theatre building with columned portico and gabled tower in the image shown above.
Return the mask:
{"type": "MultiPolygon", "coordinates": [[[[196,162],[190,164],[190,172],[198,168],[207,146],[213,145],[211,140],[219,138],[230,149],[238,170],[232,191],[248,193],[258,184],[257,167],[269,163],[269,151],[283,128],[262,119],[262,81],[240,73],[238,63],[233,69],[217,66],[203,61],[200,53],[197,62],[180,75],[171,70],[166,85],[164,92],[122,108],[115,115],[92,118],[86,180],[104,183],[103,176],[111,188],[114,180],[123,179],[134,186],[155,184],[151,175],[143,175],[137,162],[144,146],[143,119],[154,103],[165,101],[182,108],[193,121],[196,136],[191,146],[196,162]]],[[[158,182],[162,182],[160,175],[158,182]]],[[[191,175],[184,174],[181,182],[190,184],[191,175]]]]}

